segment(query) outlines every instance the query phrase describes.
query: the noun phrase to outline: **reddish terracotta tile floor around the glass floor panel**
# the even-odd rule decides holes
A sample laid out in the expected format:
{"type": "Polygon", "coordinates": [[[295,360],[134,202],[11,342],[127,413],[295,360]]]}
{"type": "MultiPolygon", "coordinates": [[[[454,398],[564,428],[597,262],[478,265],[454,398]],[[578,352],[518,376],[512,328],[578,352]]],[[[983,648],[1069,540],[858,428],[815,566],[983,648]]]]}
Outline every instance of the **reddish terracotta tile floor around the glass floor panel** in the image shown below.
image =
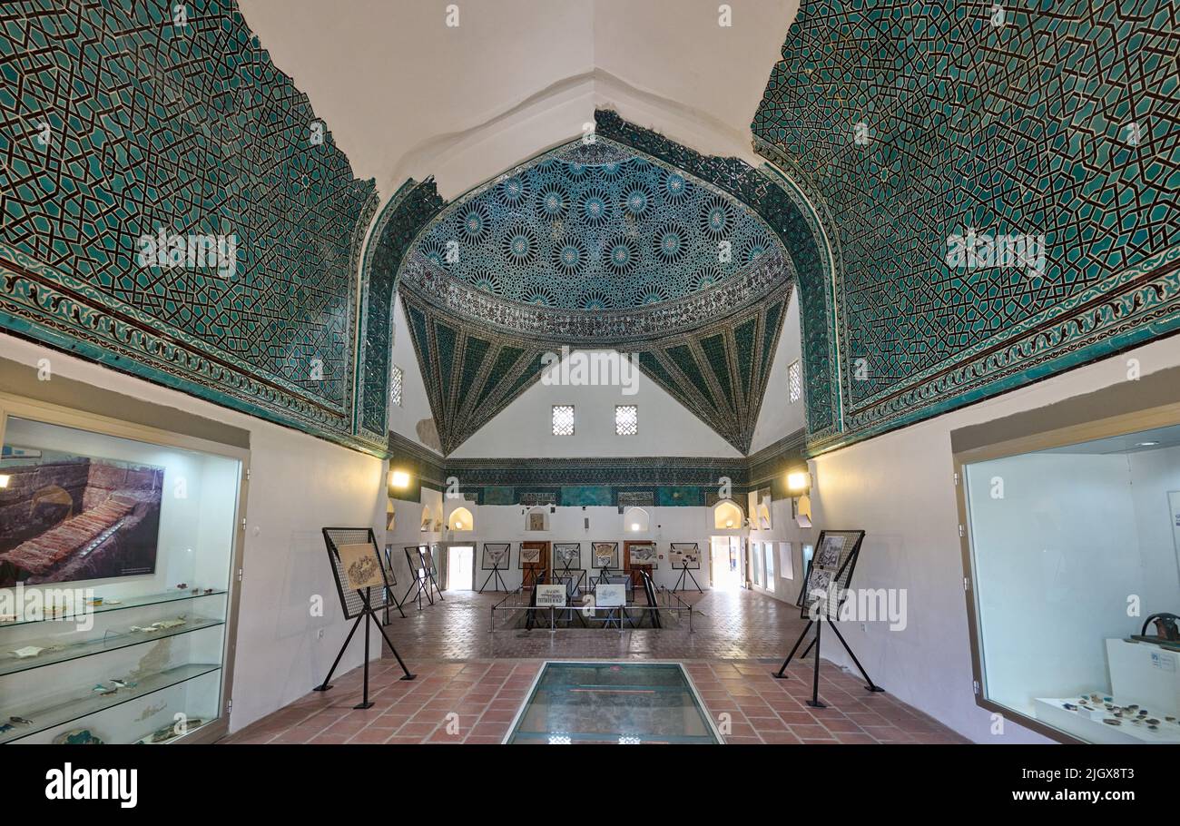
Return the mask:
{"type": "Polygon", "coordinates": [[[336,676],[330,691],[312,691],[222,742],[498,743],[540,660],[563,657],[683,662],[730,743],[966,742],[887,691],[866,691],[859,675],[826,661],[820,699],[830,707],[806,706],[809,658],[791,663],[789,680],[771,676],[805,623],[794,607],[759,594],[694,595],[701,614],[694,615],[693,634],[512,629],[493,635],[490,608],[503,595],[445,597],[422,611],[407,607],[406,620],[394,612],[387,627],[417,680],[398,680],[401,670],[387,655],[371,666],[373,708],[353,708],[361,693],[358,668],[336,676]]]}

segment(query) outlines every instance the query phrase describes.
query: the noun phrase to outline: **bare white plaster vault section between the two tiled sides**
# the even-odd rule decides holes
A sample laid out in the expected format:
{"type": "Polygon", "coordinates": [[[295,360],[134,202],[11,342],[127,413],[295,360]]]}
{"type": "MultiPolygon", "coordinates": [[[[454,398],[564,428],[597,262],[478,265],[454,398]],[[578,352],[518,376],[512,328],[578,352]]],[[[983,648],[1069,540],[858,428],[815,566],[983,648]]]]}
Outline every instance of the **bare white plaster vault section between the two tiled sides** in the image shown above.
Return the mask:
{"type": "Polygon", "coordinates": [[[798,0],[240,0],[382,201],[447,199],[583,133],[596,107],[758,163],[749,124],[798,0]],[[447,7],[458,7],[458,26],[447,7]]]}

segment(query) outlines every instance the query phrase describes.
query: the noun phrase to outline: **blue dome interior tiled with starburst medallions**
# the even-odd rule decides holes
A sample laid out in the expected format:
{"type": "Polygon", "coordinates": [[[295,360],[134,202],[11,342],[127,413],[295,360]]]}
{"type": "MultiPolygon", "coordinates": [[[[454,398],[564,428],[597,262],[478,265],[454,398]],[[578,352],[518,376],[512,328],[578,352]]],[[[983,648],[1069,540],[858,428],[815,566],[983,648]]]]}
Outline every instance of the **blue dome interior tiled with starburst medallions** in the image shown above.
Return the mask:
{"type": "Polygon", "coordinates": [[[503,299],[605,310],[708,289],[776,243],[732,197],[602,139],[576,140],[468,192],[415,249],[503,299]]]}

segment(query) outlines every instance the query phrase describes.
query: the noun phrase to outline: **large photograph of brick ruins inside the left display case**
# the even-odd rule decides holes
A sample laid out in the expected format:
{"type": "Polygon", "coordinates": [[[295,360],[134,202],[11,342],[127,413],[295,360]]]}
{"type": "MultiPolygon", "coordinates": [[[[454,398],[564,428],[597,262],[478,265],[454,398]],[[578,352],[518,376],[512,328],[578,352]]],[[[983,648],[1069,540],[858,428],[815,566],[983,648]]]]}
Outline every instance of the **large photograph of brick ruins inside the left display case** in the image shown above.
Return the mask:
{"type": "Polygon", "coordinates": [[[2,470],[0,586],[155,572],[163,467],[59,455],[2,470]]]}

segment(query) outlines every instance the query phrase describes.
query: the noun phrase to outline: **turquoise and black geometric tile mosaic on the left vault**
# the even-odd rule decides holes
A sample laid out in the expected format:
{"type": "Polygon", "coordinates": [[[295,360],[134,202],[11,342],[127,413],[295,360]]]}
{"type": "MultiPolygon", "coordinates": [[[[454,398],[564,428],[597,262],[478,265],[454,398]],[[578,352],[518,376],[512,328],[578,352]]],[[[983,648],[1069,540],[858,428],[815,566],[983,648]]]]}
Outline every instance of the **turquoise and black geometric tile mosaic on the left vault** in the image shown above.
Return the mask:
{"type": "Polygon", "coordinates": [[[0,9],[0,324],[384,451],[352,426],[374,184],[236,2],[175,7],[0,9]],[[160,231],[232,237],[232,270],[139,261],[160,231]]]}

